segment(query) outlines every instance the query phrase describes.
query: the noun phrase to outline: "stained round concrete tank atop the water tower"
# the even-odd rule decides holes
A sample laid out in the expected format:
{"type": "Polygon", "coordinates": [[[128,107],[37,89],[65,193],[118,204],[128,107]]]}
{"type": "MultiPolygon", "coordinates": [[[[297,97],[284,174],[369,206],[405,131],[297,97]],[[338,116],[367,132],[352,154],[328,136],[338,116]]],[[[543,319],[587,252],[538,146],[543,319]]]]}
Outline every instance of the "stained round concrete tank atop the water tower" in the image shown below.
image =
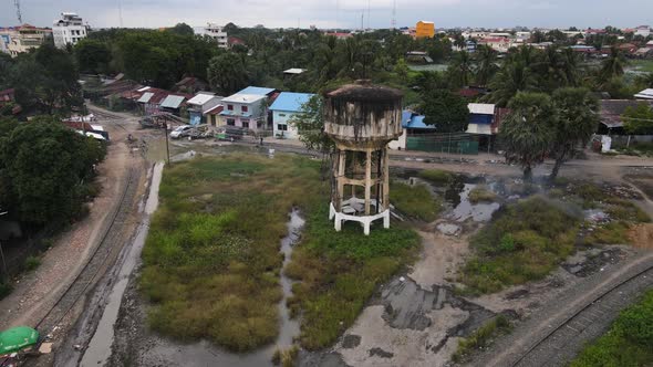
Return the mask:
{"type": "Polygon", "coordinates": [[[383,148],[402,135],[402,97],[401,91],[369,81],[328,92],[324,133],[348,148],[383,148]]]}

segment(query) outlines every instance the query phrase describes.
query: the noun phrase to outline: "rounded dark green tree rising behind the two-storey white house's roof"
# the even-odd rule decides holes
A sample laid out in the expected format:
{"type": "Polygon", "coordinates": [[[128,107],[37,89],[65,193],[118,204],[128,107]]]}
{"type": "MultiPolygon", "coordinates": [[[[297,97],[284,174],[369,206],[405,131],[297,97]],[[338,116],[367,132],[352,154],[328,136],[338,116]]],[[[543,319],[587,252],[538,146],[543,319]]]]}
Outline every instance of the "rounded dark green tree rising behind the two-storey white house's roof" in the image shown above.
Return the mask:
{"type": "Polygon", "coordinates": [[[208,80],[214,90],[226,95],[243,88],[247,86],[248,76],[242,59],[231,52],[211,59],[208,80]]]}

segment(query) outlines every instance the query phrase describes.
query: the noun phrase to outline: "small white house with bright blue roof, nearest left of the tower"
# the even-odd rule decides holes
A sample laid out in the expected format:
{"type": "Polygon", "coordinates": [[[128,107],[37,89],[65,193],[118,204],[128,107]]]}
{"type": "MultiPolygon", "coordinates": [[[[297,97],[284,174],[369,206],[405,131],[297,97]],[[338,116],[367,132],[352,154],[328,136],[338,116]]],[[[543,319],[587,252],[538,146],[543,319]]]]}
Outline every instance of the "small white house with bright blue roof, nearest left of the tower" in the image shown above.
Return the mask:
{"type": "Polygon", "coordinates": [[[281,92],[274,103],[270,105],[272,112],[272,129],[277,137],[294,139],[298,137],[297,127],[288,122],[302,112],[302,106],[314,94],[281,92]]]}

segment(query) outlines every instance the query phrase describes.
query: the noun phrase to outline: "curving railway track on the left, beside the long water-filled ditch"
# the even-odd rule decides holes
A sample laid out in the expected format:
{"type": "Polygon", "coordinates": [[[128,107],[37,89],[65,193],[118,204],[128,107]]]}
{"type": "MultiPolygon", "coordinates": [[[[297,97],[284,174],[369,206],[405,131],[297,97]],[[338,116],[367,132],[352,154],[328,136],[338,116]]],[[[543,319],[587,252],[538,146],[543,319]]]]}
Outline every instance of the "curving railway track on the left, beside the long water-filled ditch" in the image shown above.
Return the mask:
{"type": "Polygon", "coordinates": [[[117,229],[127,220],[132,212],[132,202],[138,188],[138,170],[136,168],[129,168],[125,187],[121,193],[120,203],[110,214],[110,222],[106,224],[97,245],[92,250],[89,261],[48,310],[45,315],[34,325],[34,328],[42,335],[52,333],[54,327],[63,321],[77,301],[86,294],[89,287],[96,282],[99,275],[102,275],[102,271],[105,270],[105,265],[111,259],[111,252],[115,245],[120,245],[121,231],[117,229]]]}

